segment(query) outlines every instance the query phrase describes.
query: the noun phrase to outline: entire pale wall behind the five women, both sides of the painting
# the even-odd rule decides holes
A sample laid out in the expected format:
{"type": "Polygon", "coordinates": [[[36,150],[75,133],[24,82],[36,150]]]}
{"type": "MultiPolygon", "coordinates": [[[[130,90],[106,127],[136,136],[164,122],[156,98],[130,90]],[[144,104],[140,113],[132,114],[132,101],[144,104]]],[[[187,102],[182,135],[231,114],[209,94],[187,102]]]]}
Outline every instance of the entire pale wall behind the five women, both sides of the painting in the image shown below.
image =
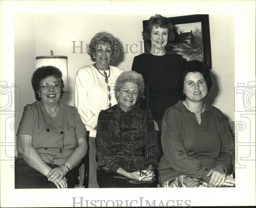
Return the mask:
{"type": "MultiPolygon", "coordinates": [[[[152,14],[154,15],[154,14],[152,14]]],[[[167,17],[174,15],[163,14],[167,17]]],[[[68,57],[69,92],[64,93],[62,102],[74,105],[74,79],[79,68],[92,64],[87,53],[72,53],[73,43],[89,43],[99,31],[108,31],[121,43],[138,44],[137,53],[125,53],[113,65],[126,71],[131,70],[133,57],[141,51],[142,20],[151,15],[109,15],[109,14],[36,14],[15,16],[15,83],[21,87],[21,109],[35,101],[30,84],[35,70],[35,57],[55,55],[68,57]]],[[[175,15],[179,16],[179,15],[175,15]]],[[[212,78],[214,86],[207,101],[218,107],[234,121],[234,18],[232,15],[209,15],[212,78]]],[[[83,52],[86,46],[83,45],[83,52]]],[[[135,49],[135,47],[133,47],[135,49]]],[[[16,121],[22,111],[16,115],[16,121]]]]}

